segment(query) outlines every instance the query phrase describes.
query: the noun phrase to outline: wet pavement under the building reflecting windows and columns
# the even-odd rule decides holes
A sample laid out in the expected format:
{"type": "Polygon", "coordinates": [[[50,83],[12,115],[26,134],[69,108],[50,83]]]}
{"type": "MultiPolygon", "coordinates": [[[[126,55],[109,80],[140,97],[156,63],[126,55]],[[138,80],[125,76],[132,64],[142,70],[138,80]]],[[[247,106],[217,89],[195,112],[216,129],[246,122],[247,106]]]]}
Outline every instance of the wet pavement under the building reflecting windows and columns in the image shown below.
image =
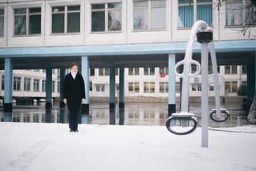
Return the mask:
{"type": "MultiPolygon", "coordinates": [[[[179,104],[176,104],[179,113],[179,104]]],[[[190,103],[190,113],[195,114],[200,126],[201,103],[190,103]]],[[[215,103],[209,103],[209,114],[215,108],[215,103]]],[[[209,127],[227,128],[247,125],[245,110],[242,103],[222,103],[221,108],[226,108],[230,118],[224,123],[216,123],[209,118],[209,127]]],[[[168,119],[168,103],[126,103],[125,108],[110,109],[108,103],[90,103],[89,115],[81,115],[80,123],[98,125],[165,125],[168,119]]],[[[45,103],[32,105],[13,104],[12,113],[4,113],[0,105],[1,122],[18,123],[68,123],[67,108],[59,108],[58,103],[53,103],[53,108],[46,109],[45,103]]]]}

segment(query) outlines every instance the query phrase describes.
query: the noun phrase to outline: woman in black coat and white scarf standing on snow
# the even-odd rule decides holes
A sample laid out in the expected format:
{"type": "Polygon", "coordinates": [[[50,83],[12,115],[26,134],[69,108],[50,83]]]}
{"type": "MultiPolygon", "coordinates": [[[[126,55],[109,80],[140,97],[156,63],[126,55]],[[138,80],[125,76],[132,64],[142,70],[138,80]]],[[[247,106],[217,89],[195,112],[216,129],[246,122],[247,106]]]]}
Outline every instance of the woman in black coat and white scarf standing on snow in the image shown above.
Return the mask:
{"type": "Polygon", "coordinates": [[[78,117],[81,103],[85,102],[86,93],[81,73],[78,72],[78,64],[71,64],[71,73],[64,79],[63,101],[68,105],[68,120],[70,132],[78,132],[78,117]]]}

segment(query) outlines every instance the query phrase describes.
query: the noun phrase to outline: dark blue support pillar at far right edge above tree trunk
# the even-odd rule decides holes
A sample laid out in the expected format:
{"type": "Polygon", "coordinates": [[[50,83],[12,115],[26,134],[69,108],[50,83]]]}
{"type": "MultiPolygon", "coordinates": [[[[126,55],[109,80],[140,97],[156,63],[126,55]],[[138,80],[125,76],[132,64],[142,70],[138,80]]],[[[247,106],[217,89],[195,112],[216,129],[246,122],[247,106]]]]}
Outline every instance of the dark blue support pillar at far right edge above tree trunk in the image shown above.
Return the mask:
{"type": "Polygon", "coordinates": [[[255,76],[256,76],[255,63],[253,64],[250,63],[249,65],[247,65],[247,100],[246,100],[247,115],[249,114],[250,106],[252,105],[253,96],[255,95],[255,87],[256,87],[255,76]]]}

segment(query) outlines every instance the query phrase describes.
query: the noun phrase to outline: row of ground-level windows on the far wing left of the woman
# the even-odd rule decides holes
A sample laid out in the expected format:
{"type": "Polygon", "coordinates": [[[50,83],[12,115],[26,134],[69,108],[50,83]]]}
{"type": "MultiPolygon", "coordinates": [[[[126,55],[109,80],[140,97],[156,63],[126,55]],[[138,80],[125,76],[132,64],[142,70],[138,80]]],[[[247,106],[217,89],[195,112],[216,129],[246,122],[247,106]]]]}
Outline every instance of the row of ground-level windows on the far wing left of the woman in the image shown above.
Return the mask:
{"type": "MultiPolygon", "coordinates": [[[[14,89],[13,90],[17,90],[20,91],[21,90],[21,78],[20,77],[15,77],[14,76],[14,89]]],[[[34,83],[34,92],[39,92],[39,85],[40,85],[40,80],[39,79],[34,79],[33,80],[34,83]]],[[[57,85],[57,92],[60,93],[60,85],[61,83],[58,81],[58,85],[57,85]]],[[[55,92],[55,86],[56,83],[55,81],[52,81],[52,92],[55,92]]],[[[4,90],[4,76],[2,76],[2,82],[1,82],[1,90],[4,90]]],[[[31,91],[31,78],[24,78],[24,91],[31,91]]],[[[46,80],[42,81],[42,92],[46,92],[46,80]]]]}

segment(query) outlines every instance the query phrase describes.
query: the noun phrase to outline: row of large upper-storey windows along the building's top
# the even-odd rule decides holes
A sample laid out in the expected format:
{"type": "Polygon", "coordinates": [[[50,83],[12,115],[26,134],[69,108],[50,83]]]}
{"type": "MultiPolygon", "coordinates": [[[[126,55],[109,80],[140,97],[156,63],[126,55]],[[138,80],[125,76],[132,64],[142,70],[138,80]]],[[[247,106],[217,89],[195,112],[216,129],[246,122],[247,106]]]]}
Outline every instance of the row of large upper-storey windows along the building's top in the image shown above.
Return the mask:
{"type": "MultiPolygon", "coordinates": [[[[249,0],[227,1],[226,25],[242,26],[256,21],[249,0]],[[245,5],[243,5],[245,4],[245,5]],[[244,12],[245,11],[245,12],[244,12]]],[[[134,0],[133,30],[166,28],[166,0],[134,0]]],[[[203,20],[213,26],[212,0],[178,0],[178,26],[191,27],[203,20]]],[[[51,6],[51,33],[80,33],[81,6],[51,6]]],[[[122,3],[91,4],[91,31],[122,31],[122,3]]],[[[14,9],[14,35],[41,34],[41,7],[14,9]]],[[[4,35],[4,9],[0,9],[0,36],[4,35]]]]}

